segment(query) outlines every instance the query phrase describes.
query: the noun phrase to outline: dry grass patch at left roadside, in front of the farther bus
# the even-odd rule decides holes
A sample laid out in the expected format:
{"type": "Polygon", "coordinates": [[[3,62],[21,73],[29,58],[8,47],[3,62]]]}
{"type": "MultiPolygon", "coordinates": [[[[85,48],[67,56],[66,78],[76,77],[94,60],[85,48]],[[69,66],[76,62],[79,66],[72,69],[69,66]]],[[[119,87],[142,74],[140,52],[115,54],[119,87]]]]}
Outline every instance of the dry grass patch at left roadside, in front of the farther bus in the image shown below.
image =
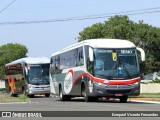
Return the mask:
{"type": "Polygon", "coordinates": [[[10,97],[8,95],[0,95],[0,103],[10,102],[29,102],[30,99],[25,95],[19,95],[18,97],[10,97]]]}

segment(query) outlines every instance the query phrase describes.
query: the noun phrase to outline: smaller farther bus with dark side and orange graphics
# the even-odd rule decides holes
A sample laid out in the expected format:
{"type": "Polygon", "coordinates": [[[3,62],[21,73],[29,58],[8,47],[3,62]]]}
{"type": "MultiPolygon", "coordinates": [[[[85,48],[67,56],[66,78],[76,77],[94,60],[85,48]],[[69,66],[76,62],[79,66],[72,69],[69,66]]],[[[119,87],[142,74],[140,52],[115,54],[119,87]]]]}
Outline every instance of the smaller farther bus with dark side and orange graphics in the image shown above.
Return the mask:
{"type": "Polygon", "coordinates": [[[10,96],[24,94],[50,96],[50,59],[26,57],[5,65],[5,86],[10,96]]]}

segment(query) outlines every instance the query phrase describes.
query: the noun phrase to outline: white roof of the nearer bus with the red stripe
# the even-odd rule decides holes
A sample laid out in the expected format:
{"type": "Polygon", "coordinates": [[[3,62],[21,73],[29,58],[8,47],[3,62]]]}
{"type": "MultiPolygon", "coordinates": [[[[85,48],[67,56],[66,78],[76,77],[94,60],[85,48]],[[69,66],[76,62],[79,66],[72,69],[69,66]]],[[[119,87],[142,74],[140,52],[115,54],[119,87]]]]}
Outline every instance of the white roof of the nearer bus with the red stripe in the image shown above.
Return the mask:
{"type": "Polygon", "coordinates": [[[56,53],[53,53],[52,56],[63,53],[74,48],[89,45],[93,48],[134,48],[136,47],[131,41],[122,40],[122,39],[88,39],[82,42],[68,46],[56,53]]]}

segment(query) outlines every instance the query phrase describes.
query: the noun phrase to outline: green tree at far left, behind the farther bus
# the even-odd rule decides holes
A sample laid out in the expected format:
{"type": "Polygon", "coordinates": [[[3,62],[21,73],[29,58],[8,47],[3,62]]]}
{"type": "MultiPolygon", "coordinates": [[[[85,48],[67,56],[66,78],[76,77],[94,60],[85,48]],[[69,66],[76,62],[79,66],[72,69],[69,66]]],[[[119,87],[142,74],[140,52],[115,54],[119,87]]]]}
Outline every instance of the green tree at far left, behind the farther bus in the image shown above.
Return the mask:
{"type": "Polygon", "coordinates": [[[3,78],[5,64],[26,57],[27,52],[26,46],[17,43],[0,46],[0,79],[3,78]]]}

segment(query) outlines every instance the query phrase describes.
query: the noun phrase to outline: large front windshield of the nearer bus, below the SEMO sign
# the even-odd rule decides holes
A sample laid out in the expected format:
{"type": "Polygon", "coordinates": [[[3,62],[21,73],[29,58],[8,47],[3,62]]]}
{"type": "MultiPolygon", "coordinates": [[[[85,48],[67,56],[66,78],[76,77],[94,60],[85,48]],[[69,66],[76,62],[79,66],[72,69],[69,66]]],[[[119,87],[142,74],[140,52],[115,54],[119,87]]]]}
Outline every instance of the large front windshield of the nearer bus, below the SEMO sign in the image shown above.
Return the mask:
{"type": "Polygon", "coordinates": [[[104,79],[131,79],[139,76],[135,49],[94,49],[94,75],[104,79]]]}

